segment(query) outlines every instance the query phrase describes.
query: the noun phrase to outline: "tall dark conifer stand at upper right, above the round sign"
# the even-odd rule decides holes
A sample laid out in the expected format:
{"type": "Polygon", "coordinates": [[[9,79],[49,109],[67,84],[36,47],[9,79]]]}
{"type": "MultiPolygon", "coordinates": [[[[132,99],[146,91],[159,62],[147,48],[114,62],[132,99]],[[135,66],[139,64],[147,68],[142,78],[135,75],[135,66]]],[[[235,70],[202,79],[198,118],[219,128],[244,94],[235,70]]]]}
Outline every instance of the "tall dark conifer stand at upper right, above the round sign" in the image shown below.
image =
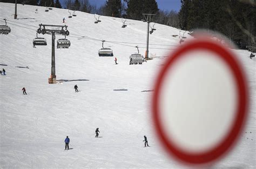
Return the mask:
{"type": "Polygon", "coordinates": [[[255,5],[255,1],[247,0],[181,0],[179,27],[220,32],[246,49],[246,46],[255,46],[255,5]]]}

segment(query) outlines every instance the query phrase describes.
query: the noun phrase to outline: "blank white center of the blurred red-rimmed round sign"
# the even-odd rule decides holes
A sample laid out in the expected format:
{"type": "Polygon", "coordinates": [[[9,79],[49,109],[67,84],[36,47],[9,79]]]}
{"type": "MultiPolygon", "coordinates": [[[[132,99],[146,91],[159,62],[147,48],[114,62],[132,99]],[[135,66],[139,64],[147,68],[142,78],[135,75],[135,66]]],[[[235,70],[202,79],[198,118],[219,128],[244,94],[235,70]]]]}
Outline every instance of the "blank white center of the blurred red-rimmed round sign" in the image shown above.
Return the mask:
{"type": "Polygon", "coordinates": [[[238,93],[229,66],[216,53],[183,53],[164,75],[159,91],[161,126],[181,150],[204,152],[231,130],[238,93]]]}

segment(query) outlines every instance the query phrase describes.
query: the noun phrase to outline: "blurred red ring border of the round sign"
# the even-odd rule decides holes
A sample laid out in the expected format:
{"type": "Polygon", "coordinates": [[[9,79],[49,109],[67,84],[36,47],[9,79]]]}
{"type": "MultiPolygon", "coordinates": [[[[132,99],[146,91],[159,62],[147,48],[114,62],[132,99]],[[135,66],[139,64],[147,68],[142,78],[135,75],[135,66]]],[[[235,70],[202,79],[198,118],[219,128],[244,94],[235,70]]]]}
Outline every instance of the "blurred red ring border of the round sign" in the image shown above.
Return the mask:
{"type": "Polygon", "coordinates": [[[191,43],[187,43],[184,46],[181,46],[176,51],[174,51],[174,53],[172,53],[170,57],[167,58],[164,67],[160,70],[157,76],[152,98],[153,123],[155,125],[157,136],[159,137],[162,145],[164,145],[165,150],[169,155],[176,158],[177,160],[186,164],[194,165],[212,163],[215,160],[219,159],[220,157],[223,157],[224,154],[227,153],[228,150],[230,150],[235,145],[235,142],[238,140],[238,136],[240,135],[247,118],[248,91],[246,76],[242,71],[242,67],[239,65],[238,61],[233,56],[233,52],[225,49],[220,44],[213,42],[213,40],[197,39],[191,43]],[[160,122],[158,97],[163,79],[165,78],[165,73],[167,72],[169,67],[172,67],[172,65],[185,52],[198,49],[209,50],[211,52],[216,53],[217,56],[224,60],[224,62],[228,65],[228,67],[230,68],[231,72],[234,75],[235,82],[237,83],[238,105],[236,116],[234,118],[234,123],[232,124],[231,130],[228,131],[227,136],[222,141],[220,141],[218,145],[214,146],[211,150],[201,153],[191,153],[185,152],[184,150],[180,150],[177,146],[175,146],[174,143],[170,142],[170,139],[166,137],[166,133],[163,131],[163,127],[161,126],[160,122]]]}

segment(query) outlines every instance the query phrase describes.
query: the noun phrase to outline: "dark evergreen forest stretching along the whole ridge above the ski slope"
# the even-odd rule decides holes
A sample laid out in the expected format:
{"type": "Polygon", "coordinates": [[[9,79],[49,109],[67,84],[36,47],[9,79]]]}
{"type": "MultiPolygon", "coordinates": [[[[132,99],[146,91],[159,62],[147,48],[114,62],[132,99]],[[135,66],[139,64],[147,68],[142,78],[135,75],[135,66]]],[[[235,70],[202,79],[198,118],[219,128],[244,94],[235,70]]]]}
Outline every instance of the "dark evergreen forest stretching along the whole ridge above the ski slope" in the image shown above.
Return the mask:
{"type": "MultiPolygon", "coordinates": [[[[15,0],[0,0],[15,3],[15,0]]],[[[158,9],[156,0],[106,0],[99,8],[89,0],[17,0],[17,3],[52,6],[70,10],[97,13],[112,17],[126,17],[141,21],[143,13],[156,14],[153,22],[186,31],[197,29],[220,32],[241,49],[255,46],[255,0],[181,0],[180,11],[158,9]]]]}

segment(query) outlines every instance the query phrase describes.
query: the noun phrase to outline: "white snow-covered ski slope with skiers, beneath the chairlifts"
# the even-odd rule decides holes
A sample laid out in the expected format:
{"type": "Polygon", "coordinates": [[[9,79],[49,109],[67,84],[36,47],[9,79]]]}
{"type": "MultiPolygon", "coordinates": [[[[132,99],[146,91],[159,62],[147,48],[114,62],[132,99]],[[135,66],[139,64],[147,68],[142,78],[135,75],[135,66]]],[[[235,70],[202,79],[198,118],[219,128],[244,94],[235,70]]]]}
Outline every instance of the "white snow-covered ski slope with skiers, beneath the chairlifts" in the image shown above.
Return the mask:
{"type": "MultiPolygon", "coordinates": [[[[150,49],[156,58],[142,65],[129,65],[129,56],[137,52],[131,46],[145,47],[146,23],[127,19],[127,27],[121,28],[120,18],[102,16],[102,22],[94,24],[94,15],[89,13],[76,12],[77,17],[68,18],[68,10],[44,10],[18,4],[15,20],[14,4],[0,3],[1,21],[8,19],[11,28],[9,35],[0,35],[0,64],[8,65],[0,65],[6,70],[6,76],[0,77],[0,168],[184,168],[167,158],[159,145],[151,123],[152,92],[142,92],[152,90],[162,56],[171,51],[163,48],[175,46],[150,45],[161,48],[150,49]],[[46,38],[47,46],[32,48],[32,40],[38,24],[63,25],[64,17],[71,46],[55,49],[56,76],[61,81],[48,84],[51,35],[38,35],[46,38]],[[99,57],[102,44],[91,38],[115,42],[105,42],[104,46],[111,46],[118,65],[114,57],[99,57]],[[73,89],[75,84],[78,93],[73,89]],[[95,138],[97,127],[100,138],[95,138]],[[144,148],[144,135],[151,147],[144,148]],[[64,151],[66,136],[73,148],[69,151],[64,151]]],[[[154,28],[157,30],[150,35],[150,44],[179,44],[178,37],[172,37],[179,35],[178,29],[159,24],[154,28]]],[[[60,38],[64,37],[56,36],[60,38]]],[[[248,51],[236,52],[246,68],[251,91],[247,133],[214,168],[255,167],[255,58],[248,58],[248,51]]],[[[140,53],[144,55],[145,49],[140,53]]]]}

